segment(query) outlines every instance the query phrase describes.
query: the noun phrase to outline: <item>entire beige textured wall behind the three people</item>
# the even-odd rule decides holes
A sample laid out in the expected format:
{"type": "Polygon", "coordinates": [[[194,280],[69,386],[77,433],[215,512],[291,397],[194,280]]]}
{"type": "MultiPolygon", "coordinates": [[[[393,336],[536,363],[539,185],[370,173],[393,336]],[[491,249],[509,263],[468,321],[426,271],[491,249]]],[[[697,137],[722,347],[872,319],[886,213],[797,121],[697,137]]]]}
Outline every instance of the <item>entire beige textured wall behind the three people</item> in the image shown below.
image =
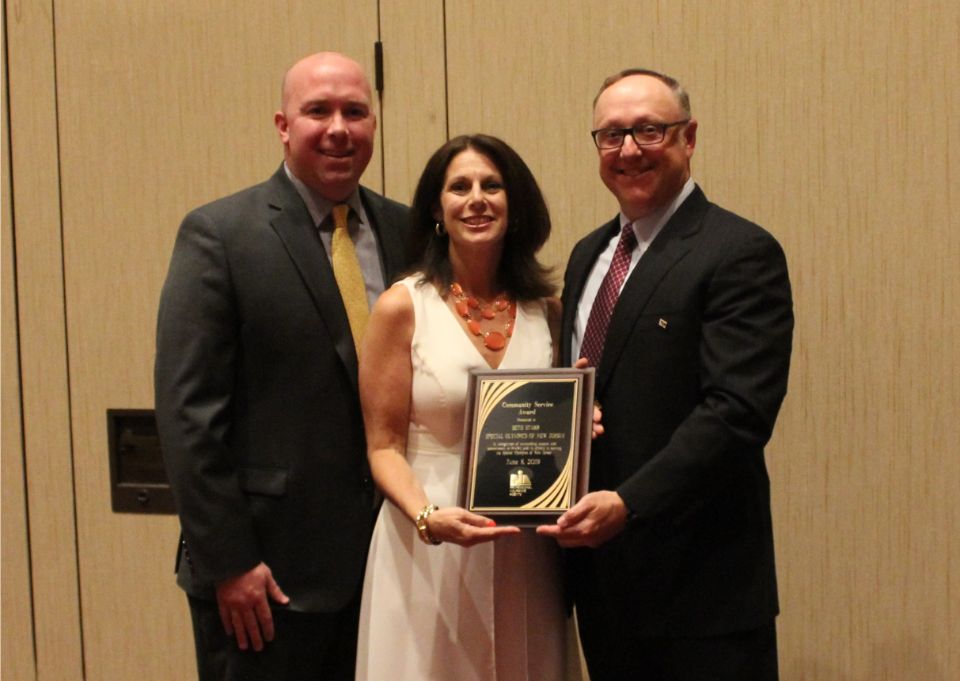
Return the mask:
{"type": "Polygon", "coordinates": [[[15,230],[5,212],[4,679],[189,675],[170,574],[176,523],[110,512],[104,411],[150,406],[156,299],[179,219],[279,162],[270,117],[283,68],[321,46],[370,67],[377,35],[383,154],[366,182],[408,200],[448,126],[501,135],[541,180],[556,225],[544,255],[559,267],[616,210],[588,137],[599,82],[650,66],[688,86],[695,178],[780,239],[795,289],[790,395],[768,450],[781,677],[960,675],[956,2],[5,10],[15,230]],[[26,533],[35,666],[7,654],[8,638],[31,644],[8,628],[30,622],[23,589],[9,589],[27,580],[26,533]]]}

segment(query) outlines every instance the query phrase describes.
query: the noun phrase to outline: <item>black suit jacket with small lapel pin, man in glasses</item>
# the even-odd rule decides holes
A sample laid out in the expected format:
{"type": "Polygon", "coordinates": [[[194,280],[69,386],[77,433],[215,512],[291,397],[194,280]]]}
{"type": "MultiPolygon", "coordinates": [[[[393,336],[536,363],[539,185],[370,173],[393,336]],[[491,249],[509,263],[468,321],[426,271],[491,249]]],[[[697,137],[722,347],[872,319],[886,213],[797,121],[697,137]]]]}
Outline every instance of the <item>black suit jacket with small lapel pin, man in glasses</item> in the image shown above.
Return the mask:
{"type": "MultiPolygon", "coordinates": [[[[565,363],[584,283],[616,230],[618,219],[570,256],[565,363]]],[[[590,580],[624,631],[711,635],[777,614],[763,448],[792,332],[779,244],[697,187],[627,280],[597,367],[606,433],[590,487],[619,492],[633,516],[606,545],[575,552],[573,584],[590,580]]]]}

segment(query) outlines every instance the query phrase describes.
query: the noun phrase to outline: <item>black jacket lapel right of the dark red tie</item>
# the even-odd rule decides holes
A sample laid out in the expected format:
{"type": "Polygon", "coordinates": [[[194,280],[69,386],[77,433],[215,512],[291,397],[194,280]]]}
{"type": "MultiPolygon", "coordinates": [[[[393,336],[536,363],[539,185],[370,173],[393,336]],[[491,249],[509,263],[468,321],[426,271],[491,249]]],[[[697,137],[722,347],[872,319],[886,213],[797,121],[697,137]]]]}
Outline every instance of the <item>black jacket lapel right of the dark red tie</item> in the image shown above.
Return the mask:
{"type": "Polygon", "coordinates": [[[696,187],[664,225],[624,284],[613,308],[603,345],[603,357],[597,369],[598,392],[606,386],[623,353],[630,330],[643,314],[653,292],[667,272],[690,251],[692,242],[689,237],[699,231],[708,206],[706,196],[696,187]]]}

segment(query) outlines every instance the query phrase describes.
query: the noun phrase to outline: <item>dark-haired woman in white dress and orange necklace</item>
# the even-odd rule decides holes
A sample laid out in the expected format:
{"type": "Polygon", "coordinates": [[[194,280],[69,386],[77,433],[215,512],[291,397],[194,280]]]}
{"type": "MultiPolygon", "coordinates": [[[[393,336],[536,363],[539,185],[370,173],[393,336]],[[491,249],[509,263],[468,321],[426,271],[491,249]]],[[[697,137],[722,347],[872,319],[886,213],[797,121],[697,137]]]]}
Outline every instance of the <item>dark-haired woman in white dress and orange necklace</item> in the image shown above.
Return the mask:
{"type": "Polygon", "coordinates": [[[560,680],[556,545],[457,506],[469,370],[554,362],[559,302],[535,256],[549,214],[516,152],[474,135],[431,157],[412,215],[420,269],[374,306],[361,352],[368,457],[386,501],[357,679],[560,680]]]}

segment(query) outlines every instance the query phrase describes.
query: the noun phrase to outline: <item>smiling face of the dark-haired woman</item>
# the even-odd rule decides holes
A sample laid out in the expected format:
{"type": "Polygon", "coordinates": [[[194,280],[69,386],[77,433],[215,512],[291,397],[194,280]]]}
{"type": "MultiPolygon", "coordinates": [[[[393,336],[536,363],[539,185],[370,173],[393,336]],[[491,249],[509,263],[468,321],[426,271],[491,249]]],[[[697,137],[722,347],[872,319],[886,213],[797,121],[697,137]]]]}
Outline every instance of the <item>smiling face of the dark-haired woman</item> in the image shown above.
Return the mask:
{"type": "Polygon", "coordinates": [[[451,248],[502,245],[507,233],[507,190],[489,158],[466,149],[450,161],[440,191],[437,219],[451,248]]]}

